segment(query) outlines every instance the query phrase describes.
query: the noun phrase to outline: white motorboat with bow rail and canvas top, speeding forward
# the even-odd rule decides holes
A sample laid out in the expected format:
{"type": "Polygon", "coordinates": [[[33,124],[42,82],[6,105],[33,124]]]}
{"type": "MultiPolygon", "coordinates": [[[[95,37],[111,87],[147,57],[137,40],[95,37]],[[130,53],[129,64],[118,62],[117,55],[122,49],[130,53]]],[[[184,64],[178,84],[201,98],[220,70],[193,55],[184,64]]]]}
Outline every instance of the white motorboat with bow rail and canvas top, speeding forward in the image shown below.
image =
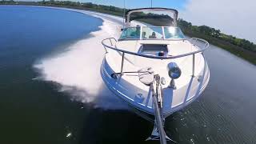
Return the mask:
{"type": "Polygon", "coordinates": [[[101,75],[106,86],[119,98],[143,113],[154,116],[151,140],[170,140],[164,120],[189,105],[205,90],[210,70],[203,51],[209,43],[201,38],[186,38],[178,27],[178,11],[166,8],[142,8],[125,14],[118,39],[106,38],[101,75]],[[163,11],[164,14],[158,14],[163,11]],[[156,12],[156,14],[152,14],[156,12]],[[169,26],[132,26],[132,14],[165,16],[169,26]],[[168,17],[169,18],[169,17],[168,17]]]}

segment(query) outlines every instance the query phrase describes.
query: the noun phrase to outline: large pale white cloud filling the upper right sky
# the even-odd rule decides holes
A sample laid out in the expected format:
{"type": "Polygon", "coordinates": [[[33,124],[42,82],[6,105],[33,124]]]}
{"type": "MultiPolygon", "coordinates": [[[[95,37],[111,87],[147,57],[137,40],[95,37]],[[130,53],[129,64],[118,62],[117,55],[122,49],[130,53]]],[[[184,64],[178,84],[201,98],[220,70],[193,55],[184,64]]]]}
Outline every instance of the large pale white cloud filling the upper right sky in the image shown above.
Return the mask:
{"type": "Polygon", "coordinates": [[[255,0],[188,0],[180,17],[256,43],[255,0]]]}

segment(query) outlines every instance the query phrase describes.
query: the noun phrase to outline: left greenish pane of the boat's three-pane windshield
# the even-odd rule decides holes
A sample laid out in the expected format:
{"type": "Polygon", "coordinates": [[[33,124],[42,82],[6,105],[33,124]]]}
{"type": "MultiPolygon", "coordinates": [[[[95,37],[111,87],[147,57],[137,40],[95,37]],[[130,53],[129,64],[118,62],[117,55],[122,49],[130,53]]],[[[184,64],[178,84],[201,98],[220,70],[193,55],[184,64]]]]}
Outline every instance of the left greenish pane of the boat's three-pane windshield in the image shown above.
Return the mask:
{"type": "Polygon", "coordinates": [[[122,30],[120,39],[139,39],[141,35],[141,27],[128,27],[122,30]]]}

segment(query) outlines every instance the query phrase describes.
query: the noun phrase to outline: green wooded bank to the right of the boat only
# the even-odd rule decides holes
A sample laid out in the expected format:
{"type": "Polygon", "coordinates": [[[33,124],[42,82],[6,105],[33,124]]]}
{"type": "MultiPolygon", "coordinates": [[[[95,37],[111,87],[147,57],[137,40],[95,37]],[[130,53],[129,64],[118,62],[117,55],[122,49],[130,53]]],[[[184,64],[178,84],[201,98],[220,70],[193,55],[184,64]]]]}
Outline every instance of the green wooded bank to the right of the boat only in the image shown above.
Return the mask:
{"type": "Polygon", "coordinates": [[[249,62],[256,64],[256,45],[246,39],[235,38],[232,35],[221,33],[209,26],[193,26],[190,22],[179,19],[178,25],[183,32],[191,37],[204,38],[215,46],[222,47],[249,62]]]}

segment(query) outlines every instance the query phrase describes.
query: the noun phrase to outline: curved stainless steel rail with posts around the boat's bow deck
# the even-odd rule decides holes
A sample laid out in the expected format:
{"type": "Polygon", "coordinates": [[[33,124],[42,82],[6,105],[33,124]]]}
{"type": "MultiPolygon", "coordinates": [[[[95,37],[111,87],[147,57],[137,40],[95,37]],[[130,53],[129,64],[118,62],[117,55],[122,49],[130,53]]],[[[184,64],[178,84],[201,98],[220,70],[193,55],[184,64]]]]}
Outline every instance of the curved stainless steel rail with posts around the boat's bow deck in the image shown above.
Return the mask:
{"type": "MultiPolygon", "coordinates": [[[[170,41],[170,40],[166,40],[166,41],[170,41]]],[[[157,56],[157,55],[149,55],[149,54],[142,54],[142,53],[134,53],[128,50],[122,50],[122,49],[118,49],[115,44],[116,42],[118,42],[115,38],[106,38],[102,40],[102,45],[104,46],[104,49],[106,50],[106,53],[108,53],[107,49],[112,49],[112,50],[116,50],[118,52],[122,53],[122,64],[121,64],[121,70],[120,73],[116,73],[119,74],[120,76],[122,76],[123,72],[123,66],[124,66],[124,58],[125,58],[125,54],[132,54],[132,55],[136,55],[138,57],[144,57],[144,58],[154,58],[154,59],[174,59],[174,58],[182,58],[182,57],[186,57],[186,56],[190,56],[193,55],[193,60],[192,60],[192,77],[194,77],[194,54],[198,54],[198,53],[202,53],[204,50],[206,50],[209,47],[209,42],[207,42],[206,40],[202,39],[202,38],[190,38],[189,40],[190,42],[192,42],[193,46],[196,46],[199,48],[199,46],[196,45],[197,42],[203,42],[202,43],[202,49],[201,50],[196,50],[190,53],[186,53],[186,54],[179,54],[179,55],[166,55],[166,56],[157,56]],[[110,45],[106,44],[106,42],[110,42],[110,45]],[[114,42],[113,42],[114,41],[114,42]]]]}

